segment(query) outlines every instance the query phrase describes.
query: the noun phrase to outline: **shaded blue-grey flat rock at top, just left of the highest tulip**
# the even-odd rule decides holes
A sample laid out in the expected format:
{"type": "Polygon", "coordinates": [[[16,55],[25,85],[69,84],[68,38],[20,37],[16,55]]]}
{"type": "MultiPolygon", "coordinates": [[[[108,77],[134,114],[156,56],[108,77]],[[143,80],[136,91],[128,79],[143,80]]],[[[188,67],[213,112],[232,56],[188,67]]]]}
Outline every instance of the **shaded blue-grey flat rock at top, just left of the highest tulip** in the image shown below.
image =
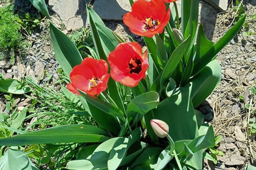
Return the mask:
{"type": "Polygon", "coordinates": [[[93,10],[102,20],[122,20],[131,7],[129,0],[95,0],[93,10]]]}

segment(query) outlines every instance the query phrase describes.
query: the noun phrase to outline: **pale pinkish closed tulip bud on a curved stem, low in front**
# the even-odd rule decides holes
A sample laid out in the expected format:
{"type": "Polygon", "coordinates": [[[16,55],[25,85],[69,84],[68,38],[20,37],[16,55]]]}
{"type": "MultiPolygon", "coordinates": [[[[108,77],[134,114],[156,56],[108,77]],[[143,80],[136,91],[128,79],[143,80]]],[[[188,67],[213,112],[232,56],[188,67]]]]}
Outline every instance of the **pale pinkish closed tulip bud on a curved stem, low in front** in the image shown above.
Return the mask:
{"type": "Polygon", "coordinates": [[[164,121],[152,119],[150,124],[158,137],[164,138],[168,135],[169,126],[164,121]]]}

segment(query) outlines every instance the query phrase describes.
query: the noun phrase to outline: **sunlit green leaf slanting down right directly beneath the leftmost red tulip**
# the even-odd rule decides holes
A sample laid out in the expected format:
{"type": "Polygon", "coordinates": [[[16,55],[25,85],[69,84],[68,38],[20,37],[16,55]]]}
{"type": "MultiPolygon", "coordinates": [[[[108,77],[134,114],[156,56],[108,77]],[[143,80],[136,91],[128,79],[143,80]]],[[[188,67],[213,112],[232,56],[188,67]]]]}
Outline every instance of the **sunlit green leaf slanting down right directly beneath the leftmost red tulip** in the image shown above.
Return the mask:
{"type": "Polygon", "coordinates": [[[118,117],[122,121],[125,120],[124,113],[117,106],[110,104],[108,102],[105,102],[104,100],[100,100],[99,98],[96,98],[94,96],[87,95],[86,93],[84,93],[80,90],[79,90],[79,92],[82,95],[82,97],[87,102],[90,102],[90,104],[92,104],[93,106],[104,111],[105,113],[108,113],[109,115],[112,115],[113,117],[118,117]]]}

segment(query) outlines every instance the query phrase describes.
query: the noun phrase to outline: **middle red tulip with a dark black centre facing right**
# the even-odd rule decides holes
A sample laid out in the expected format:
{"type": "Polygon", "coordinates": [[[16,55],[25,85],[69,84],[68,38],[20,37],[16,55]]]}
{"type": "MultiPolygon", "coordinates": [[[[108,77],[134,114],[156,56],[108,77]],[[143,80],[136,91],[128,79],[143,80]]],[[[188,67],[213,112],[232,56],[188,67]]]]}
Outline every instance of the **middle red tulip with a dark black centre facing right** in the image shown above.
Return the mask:
{"type": "Polygon", "coordinates": [[[121,43],[108,55],[111,77],[126,86],[137,86],[148,69],[147,52],[138,43],[121,43]]]}

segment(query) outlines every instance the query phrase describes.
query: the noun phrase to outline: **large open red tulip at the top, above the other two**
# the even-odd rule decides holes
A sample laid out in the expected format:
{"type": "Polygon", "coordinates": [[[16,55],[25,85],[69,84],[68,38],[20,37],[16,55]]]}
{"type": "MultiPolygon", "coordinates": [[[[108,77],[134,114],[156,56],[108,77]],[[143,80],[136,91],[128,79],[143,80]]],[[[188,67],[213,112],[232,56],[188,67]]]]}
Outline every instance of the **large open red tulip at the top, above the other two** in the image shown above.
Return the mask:
{"type": "Polygon", "coordinates": [[[153,37],[163,32],[170,20],[170,12],[170,9],[166,12],[162,0],[137,0],[132,5],[132,12],[125,14],[123,20],[132,33],[153,37]]]}

